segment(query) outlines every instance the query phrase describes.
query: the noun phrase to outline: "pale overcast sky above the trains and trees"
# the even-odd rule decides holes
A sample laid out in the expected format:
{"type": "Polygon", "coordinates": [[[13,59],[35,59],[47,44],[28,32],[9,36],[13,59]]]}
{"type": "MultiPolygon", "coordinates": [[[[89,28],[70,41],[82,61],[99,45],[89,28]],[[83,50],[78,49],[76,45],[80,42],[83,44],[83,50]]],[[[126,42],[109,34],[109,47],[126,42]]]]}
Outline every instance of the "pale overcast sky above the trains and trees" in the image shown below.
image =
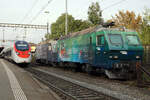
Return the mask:
{"type": "MultiPolygon", "coordinates": [[[[65,12],[65,0],[0,0],[0,23],[22,23],[46,25],[51,24],[65,12]],[[45,8],[41,11],[42,8],[45,8]],[[44,13],[48,11],[49,14],[44,13]],[[40,13],[39,13],[40,12],[40,13]],[[39,13],[39,14],[38,14],[39,13]],[[38,16],[37,16],[38,15],[38,16]]],[[[92,2],[99,2],[104,20],[115,16],[119,10],[134,11],[137,15],[150,8],[150,0],[68,0],[68,13],[75,19],[87,20],[88,7],[92,2]]],[[[0,28],[0,40],[3,30],[6,40],[14,40],[24,35],[25,30],[19,28],[0,28]]],[[[39,43],[46,30],[27,29],[27,41],[39,43]]],[[[2,43],[0,43],[1,45],[2,43]]]]}

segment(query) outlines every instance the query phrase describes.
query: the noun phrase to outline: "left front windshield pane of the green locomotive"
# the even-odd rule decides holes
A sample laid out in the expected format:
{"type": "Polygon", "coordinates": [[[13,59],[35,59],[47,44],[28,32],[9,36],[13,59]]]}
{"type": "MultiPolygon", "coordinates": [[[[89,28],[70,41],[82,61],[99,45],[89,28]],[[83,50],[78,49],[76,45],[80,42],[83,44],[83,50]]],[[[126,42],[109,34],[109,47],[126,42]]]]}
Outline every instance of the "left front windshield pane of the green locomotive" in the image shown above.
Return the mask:
{"type": "Polygon", "coordinates": [[[120,34],[109,34],[109,40],[112,45],[122,45],[122,36],[120,34]]]}

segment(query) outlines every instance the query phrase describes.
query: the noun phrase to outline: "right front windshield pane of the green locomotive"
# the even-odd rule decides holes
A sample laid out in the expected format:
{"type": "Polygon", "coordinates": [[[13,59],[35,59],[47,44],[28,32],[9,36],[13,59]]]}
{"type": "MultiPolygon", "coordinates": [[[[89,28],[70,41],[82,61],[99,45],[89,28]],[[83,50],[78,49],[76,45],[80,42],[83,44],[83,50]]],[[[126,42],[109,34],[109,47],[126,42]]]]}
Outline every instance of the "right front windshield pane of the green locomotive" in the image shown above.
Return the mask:
{"type": "Polygon", "coordinates": [[[126,36],[129,45],[139,45],[139,39],[136,35],[127,35],[126,36]]]}

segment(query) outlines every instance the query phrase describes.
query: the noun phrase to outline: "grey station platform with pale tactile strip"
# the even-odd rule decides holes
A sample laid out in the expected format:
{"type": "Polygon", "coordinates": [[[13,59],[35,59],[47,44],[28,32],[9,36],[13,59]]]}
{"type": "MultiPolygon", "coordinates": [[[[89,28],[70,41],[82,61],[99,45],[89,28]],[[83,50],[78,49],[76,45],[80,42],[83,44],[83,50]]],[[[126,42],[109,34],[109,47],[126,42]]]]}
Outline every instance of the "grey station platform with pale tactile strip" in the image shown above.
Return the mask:
{"type": "Polygon", "coordinates": [[[0,59],[0,100],[57,100],[24,69],[0,59]]]}

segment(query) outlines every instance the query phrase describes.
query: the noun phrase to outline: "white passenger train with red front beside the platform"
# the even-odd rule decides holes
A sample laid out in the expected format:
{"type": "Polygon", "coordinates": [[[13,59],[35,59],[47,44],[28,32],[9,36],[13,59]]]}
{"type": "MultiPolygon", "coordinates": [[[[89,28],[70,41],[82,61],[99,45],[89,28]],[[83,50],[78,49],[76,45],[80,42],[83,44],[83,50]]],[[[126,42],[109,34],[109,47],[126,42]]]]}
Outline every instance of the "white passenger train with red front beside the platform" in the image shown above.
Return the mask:
{"type": "Polygon", "coordinates": [[[26,41],[16,41],[12,47],[4,49],[2,55],[17,64],[31,62],[31,48],[26,41]]]}

